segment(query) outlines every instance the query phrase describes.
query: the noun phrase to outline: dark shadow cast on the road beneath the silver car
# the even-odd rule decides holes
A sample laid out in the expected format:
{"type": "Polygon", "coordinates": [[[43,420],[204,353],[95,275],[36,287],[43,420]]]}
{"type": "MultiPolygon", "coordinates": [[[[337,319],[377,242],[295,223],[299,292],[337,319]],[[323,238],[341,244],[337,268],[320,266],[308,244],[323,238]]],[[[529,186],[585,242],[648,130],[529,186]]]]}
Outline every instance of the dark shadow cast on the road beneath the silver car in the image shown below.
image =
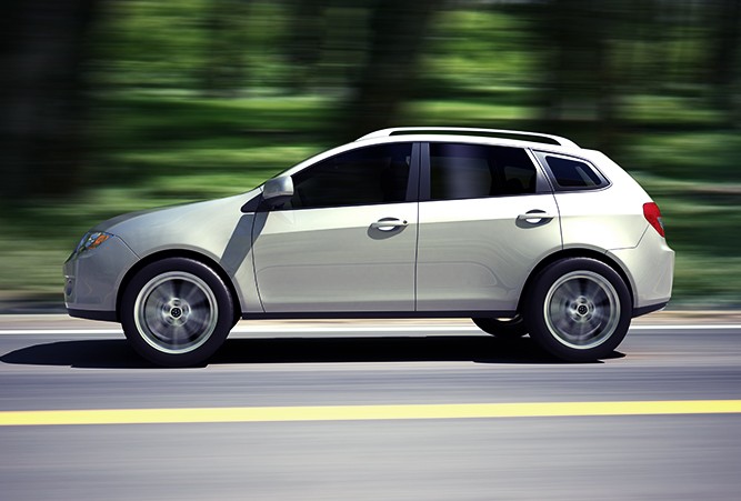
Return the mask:
{"type": "MultiPolygon", "coordinates": [[[[624,355],[614,352],[610,358],[621,357],[624,355]]],[[[36,344],[9,352],[0,361],[8,364],[84,369],[154,367],[141,359],[126,340],[119,339],[36,344]]],[[[228,339],[208,364],[467,361],[493,364],[565,363],[540,350],[529,338],[503,341],[485,335],[434,335],[228,339]]]]}

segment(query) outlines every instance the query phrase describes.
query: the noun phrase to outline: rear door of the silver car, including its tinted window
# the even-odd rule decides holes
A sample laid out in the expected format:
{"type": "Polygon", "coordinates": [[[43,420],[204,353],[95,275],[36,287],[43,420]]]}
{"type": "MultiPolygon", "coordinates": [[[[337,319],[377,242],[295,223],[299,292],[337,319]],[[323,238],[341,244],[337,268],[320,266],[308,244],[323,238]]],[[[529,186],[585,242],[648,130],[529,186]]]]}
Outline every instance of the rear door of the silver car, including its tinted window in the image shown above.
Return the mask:
{"type": "Polygon", "coordinates": [[[513,311],[534,265],[561,249],[550,184],[522,148],[422,146],[418,311],[513,311]]]}

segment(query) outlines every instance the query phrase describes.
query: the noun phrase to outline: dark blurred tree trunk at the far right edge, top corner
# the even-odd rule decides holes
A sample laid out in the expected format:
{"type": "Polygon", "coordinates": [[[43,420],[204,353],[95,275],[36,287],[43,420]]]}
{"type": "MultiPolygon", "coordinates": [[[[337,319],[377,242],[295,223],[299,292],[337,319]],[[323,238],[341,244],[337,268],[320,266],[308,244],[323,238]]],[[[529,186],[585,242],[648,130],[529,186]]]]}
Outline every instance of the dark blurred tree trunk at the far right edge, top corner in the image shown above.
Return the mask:
{"type": "Polygon", "coordinates": [[[728,112],[729,122],[741,127],[741,103],[739,103],[739,53],[741,51],[741,0],[718,0],[714,2],[711,26],[714,43],[711,54],[710,81],[713,100],[719,110],[728,112]]]}

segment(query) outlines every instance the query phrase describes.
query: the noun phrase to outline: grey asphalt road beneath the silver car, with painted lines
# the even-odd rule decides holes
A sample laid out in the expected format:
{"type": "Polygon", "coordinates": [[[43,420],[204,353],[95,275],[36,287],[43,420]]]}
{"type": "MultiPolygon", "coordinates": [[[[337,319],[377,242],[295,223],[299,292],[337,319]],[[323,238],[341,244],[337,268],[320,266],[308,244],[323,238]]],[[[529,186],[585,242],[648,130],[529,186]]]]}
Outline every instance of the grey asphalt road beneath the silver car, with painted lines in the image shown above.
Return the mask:
{"type": "Polygon", "coordinates": [[[159,369],[116,324],[0,320],[0,424],[89,419],[0,425],[0,499],[739,499],[741,324],[638,325],[619,350],[570,364],[470,322],[242,322],[207,367],[159,369]],[[668,401],[698,402],[664,413],[668,401]],[[264,417],[198,413],[246,408],[264,417]],[[147,418],[173,409],[183,422],[147,418]],[[98,410],[131,421],[96,424],[98,410]]]}

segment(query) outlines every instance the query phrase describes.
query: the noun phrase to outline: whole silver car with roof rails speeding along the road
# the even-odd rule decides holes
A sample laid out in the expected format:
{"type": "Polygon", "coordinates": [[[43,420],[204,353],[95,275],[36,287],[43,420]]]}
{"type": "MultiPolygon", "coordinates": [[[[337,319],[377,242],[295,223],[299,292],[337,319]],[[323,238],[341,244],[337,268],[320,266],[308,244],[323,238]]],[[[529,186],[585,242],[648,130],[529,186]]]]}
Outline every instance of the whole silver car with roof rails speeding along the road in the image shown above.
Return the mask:
{"type": "Polygon", "coordinates": [[[170,367],[206,361],[239,319],[340,317],[468,317],[589,361],[667,304],[673,268],[659,208],[603,153],[397,128],[248,193],[98,224],[64,263],[64,299],[170,367]]]}

